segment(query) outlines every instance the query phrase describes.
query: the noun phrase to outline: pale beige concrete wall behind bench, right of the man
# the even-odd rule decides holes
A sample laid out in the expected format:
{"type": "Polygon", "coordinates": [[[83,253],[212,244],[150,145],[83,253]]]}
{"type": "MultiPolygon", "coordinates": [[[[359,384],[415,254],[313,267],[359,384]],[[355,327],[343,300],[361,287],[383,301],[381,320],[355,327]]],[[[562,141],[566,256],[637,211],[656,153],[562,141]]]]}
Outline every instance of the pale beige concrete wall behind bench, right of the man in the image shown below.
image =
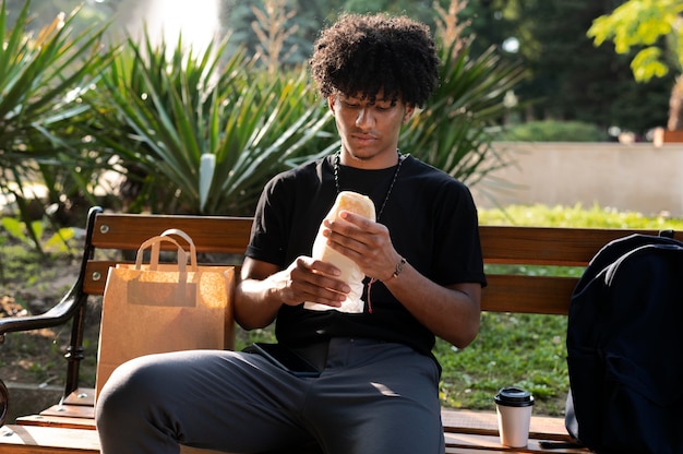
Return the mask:
{"type": "Polygon", "coordinates": [[[501,142],[495,147],[512,165],[471,188],[480,207],[580,203],[683,216],[683,143],[501,142]]]}

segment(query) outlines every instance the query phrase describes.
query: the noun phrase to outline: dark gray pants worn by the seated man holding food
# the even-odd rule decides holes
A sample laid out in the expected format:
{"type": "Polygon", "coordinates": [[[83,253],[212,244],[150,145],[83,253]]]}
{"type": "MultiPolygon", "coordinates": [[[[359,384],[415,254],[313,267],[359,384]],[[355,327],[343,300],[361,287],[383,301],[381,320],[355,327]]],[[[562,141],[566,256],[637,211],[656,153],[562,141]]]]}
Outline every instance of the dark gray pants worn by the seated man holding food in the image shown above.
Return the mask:
{"type": "Polygon", "coordinates": [[[317,441],[326,454],[444,452],[439,371],[400,344],[334,338],[320,378],[259,355],[196,350],[118,368],[97,399],[103,454],[179,443],[263,453],[317,441]]]}

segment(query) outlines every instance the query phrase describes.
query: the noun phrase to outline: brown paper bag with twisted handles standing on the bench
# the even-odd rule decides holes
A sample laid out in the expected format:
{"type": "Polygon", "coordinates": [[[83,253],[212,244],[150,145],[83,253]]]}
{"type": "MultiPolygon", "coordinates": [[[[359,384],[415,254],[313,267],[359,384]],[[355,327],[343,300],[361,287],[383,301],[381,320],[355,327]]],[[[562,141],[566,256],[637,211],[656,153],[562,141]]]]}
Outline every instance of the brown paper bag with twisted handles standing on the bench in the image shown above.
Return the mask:
{"type": "Polygon", "coordinates": [[[166,230],[145,241],[134,265],[109,268],[103,298],[96,393],[121,363],[143,355],[232,348],[233,266],[199,266],[190,237],[166,230]],[[188,252],[171,235],[189,243],[188,252]],[[159,264],[160,243],[178,250],[177,264],[159,264]],[[151,249],[148,264],[143,253],[151,249]]]}

